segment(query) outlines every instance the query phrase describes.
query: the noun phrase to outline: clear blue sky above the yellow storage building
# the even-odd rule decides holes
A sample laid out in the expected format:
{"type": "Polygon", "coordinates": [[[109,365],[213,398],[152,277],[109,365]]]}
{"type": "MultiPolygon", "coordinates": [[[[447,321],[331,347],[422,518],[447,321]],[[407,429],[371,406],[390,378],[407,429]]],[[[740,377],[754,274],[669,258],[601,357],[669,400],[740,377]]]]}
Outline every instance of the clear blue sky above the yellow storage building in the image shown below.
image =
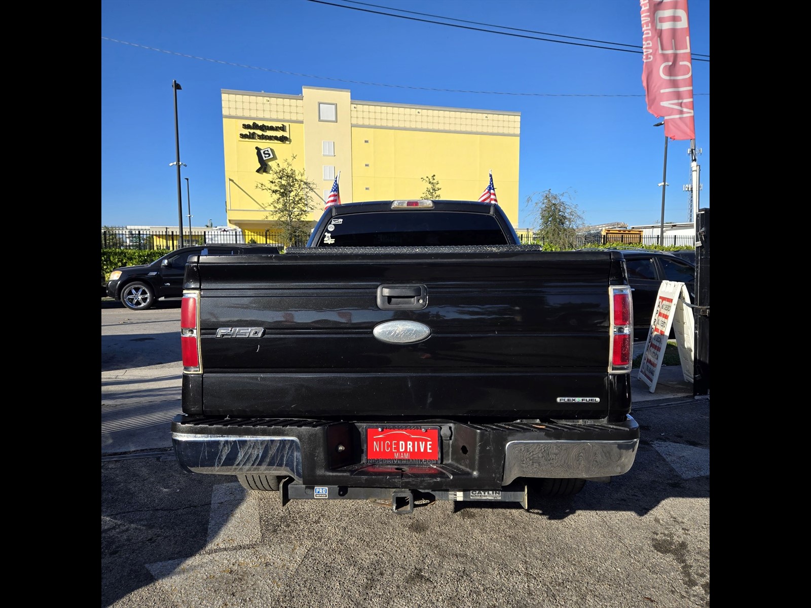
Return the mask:
{"type": "MultiPolygon", "coordinates": [[[[225,225],[221,89],[300,95],[303,86],[520,112],[517,228],[530,226],[526,198],[546,190],[572,195],[590,225],[659,223],[664,133],[646,107],[637,0],[324,2],[102,0],[101,225],[178,224],[173,79],[195,226],[225,225]]],[[[710,63],[695,59],[710,54],[710,2],[689,0],[688,11],[705,208],[710,63]]],[[[667,146],[665,221],[689,221],[688,148],[667,146]]],[[[186,214],[183,179],[183,225],[186,214]]]]}

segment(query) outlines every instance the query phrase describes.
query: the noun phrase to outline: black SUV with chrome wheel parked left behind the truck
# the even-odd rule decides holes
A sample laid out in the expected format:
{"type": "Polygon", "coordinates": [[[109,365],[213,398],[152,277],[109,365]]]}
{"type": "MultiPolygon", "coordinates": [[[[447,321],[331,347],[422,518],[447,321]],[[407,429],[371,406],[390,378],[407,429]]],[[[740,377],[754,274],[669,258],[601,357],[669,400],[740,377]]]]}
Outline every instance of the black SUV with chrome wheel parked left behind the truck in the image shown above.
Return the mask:
{"type": "Polygon", "coordinates": [[[150,264],[122,266],[109,273],[107,295],[132,310],[151,308],[158,298],[182,298],[183,274],[190,255],[277,254],[266,245],[199,245],[182,247],[150,264]]]}

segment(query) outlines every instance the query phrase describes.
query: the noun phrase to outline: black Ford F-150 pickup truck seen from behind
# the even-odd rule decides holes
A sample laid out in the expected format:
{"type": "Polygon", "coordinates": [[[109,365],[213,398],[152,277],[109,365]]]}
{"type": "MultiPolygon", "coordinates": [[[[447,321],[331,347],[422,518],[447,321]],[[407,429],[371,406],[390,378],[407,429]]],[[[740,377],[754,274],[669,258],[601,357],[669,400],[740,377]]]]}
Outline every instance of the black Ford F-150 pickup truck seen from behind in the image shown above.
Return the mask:
{"type": "Polygon", "coordinates": [[[491,203],[336,205],[306,247],[188,260],[175,452],[282,504],[526,507],[633,465],[632,334],[619,251],[521,246],[491,203]]]}

